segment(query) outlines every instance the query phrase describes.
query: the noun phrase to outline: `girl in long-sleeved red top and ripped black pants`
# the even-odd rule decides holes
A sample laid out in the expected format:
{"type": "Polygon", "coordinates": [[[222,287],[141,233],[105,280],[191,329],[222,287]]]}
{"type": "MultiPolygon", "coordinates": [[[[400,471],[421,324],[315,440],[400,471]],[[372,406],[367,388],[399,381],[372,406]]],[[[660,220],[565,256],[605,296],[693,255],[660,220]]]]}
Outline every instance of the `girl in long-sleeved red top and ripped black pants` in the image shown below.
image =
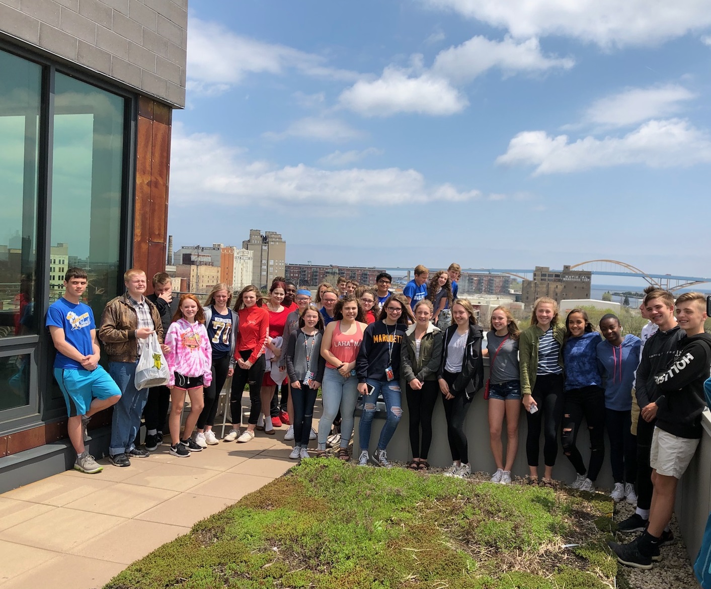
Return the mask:
{"type": "MultiPolygon", "coordinates": [[[[230,391],[230,414],[232,429],[225,436],[225,442],[249,442],[255,437],[257,418],[262,412],[260,386],[264,377],[264,342],[269,330],[269,311],[262,308],[262,296],[259,289],[250,284],[242,288],[237,295],[235,311],[240,320],[240,330],[235,342],[235,374],[232,377],[230,391]],[[239,423],[242,421],[242,393],[245,384],[250,384],[250,419],[247,429],[240,435],[239,423]]],[[[272,391],[274,389],[272,388],[272,391]]],[[[267,405],[267,408],[269,405],[267,405]]],[[[269,411],[269,409],[267,409],[269,411]]]]}

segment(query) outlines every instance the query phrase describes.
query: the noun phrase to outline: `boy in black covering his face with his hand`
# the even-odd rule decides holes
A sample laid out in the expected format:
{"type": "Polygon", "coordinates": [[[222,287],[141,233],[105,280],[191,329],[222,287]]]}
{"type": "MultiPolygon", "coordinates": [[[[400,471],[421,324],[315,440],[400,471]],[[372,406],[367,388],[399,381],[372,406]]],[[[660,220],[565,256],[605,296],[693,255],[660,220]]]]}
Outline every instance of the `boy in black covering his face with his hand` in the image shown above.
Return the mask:
{"type": "MultiPolygon", "coordinates": [[[[173,297],[171,277],[165,272],[153,276],[153,294],[146,296],[161,315],[163,333],[167,333],[173,322],[173,315],[178,310],[178,297],[173,297]]],[[[168,387],[151,387],[148,389],[148,399],[143,410],[146,420],[146,450],[153,452],[163,443],[163,428],[166,425],[168,407],[171,402],[171,391],[168,387]]]]}

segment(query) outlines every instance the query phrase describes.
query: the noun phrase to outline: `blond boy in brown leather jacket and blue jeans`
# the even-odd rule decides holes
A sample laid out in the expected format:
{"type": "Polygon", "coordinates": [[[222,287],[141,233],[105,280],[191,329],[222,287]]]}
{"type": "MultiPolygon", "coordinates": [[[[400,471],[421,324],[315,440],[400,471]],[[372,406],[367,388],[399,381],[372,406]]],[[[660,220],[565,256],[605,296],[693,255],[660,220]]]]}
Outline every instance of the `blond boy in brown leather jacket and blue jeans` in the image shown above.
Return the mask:
{"type": "Polygon", "coordinates": [[[106,303],[101,315],[99,339],[109,355],[109,374],[121,389],[111,424],[109,460],[114,466],[130,466],[131,458],[146,458],[146,450],[136,448],[134,440],[141,425],[147,389],[136,390],[134,377],[141,347],[153,333],[163,343],[163,322],[158,308],[143,293],[146,273],[132,268],[124,274],[126,293],[106,303]]]}

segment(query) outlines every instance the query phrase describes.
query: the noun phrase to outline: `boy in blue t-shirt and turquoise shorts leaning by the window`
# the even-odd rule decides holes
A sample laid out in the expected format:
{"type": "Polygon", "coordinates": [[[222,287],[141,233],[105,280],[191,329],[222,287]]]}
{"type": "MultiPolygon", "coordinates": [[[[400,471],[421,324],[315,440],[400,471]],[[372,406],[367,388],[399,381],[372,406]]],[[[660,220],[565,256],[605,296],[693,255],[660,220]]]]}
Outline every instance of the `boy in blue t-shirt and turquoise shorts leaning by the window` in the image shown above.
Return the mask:
{"type": "Polygon", "coordinates": [[[54,377],[67,404],[67,431],[77,453],[74,468],[94,474],[102,467],[84,446],[92,415],[117,403],[121,391],[99,366],[99,342],[91,307],[80,298],[87,288],[87,273],[70,268],[64,276],[64,295],[50,305],[46,325],[57,349],[54,377]]]}

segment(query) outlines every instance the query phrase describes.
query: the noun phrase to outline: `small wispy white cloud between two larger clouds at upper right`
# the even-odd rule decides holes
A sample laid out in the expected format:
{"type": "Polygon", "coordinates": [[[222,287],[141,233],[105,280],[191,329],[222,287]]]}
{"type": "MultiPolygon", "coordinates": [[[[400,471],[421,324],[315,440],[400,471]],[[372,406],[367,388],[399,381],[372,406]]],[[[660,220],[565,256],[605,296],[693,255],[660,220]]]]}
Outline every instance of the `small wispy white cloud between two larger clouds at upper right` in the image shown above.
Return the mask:
{"type": "Polygon", "coordinates": [[[629,88],[595,101],[587,109],[583,120],[611,127],[637,124],[677,114],[683,108],[683,102],[695,97],[696,94],[690,90],[675,84],[629,88]]]}

